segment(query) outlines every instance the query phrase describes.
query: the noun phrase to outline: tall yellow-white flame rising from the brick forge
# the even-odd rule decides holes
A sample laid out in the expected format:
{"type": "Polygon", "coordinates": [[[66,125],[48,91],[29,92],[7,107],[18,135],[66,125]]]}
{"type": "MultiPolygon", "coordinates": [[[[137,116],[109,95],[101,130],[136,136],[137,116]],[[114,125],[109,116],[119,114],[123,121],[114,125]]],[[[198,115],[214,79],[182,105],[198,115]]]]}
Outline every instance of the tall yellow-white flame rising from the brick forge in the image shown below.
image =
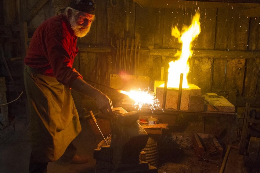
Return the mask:
{"type": "MultiPolygon", "coordinates": [[[[190,72],[190,64],[188,59],[193,54],[192,41],[200,34],[199,19],[200,13],[196,12],[191,25],[189,27],[184,26],[182,33],[176,26],[172,27],[172,36],[178,38],[179,43],[182,43],[182,50],[175,54],[179,57],[176,61],[169,62],[167,87],[179,88],[180,74],[183,73],[182,88],[189,88],[187,74],[190,72]]],[[[164,87],[164,84],[161,87],[164,87]]]]}

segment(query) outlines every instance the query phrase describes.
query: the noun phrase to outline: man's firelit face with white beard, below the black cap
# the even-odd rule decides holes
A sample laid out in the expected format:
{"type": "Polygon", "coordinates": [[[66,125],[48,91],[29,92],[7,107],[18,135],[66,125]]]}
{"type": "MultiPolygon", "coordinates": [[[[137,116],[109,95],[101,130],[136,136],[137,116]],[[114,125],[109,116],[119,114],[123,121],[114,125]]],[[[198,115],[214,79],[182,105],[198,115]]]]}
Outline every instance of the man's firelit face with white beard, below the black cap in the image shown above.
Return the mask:
{"type": "Polygon", "coordinates": [[[72,15],[70,19],[70,24],[72,30],[74,30],[75,35],[78,37],[84,37],[85,35],[87,35],[94,19],[95,15],[85,12],[79,12],[76,15],[72,15]]]}

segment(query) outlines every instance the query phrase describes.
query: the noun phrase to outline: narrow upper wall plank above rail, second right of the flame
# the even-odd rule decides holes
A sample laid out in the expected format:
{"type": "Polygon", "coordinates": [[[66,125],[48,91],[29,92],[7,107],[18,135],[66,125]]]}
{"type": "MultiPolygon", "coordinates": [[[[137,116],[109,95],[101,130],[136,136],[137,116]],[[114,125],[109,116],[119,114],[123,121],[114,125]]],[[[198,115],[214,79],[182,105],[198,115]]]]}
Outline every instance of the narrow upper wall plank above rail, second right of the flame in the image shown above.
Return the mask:
{"type": "Polygon", "coordinates": [[[217,10],[215,50],[226,50],[228,45],[228,21],[229,10],[220,8],[217,10]]]}

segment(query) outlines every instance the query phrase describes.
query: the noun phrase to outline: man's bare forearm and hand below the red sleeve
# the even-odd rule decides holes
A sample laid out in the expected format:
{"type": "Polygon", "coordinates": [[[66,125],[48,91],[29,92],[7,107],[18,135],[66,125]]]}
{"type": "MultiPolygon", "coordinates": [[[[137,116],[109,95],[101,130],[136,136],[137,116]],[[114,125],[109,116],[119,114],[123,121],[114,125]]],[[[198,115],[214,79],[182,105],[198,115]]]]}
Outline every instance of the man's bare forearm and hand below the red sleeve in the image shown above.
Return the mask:
{"type": "Polygon", "coordinates": [[[98,89],[78,78],[73,81],[71,88],[96,100],[97,107],[104,115],[113,115],[112,101],[98,89]]]}

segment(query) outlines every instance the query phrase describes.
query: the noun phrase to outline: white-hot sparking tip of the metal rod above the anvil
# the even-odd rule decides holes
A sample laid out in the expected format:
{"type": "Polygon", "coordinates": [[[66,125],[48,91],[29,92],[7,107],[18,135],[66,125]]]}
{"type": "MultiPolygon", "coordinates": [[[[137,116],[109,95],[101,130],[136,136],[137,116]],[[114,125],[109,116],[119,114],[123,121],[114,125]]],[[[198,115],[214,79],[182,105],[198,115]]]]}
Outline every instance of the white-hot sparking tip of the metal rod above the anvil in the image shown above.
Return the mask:
{"type": "Polygon", "coordinates": [[[128,95],[134,101],[132,106],[138,108],[138,110],[143,106],[148,106],[153,110],[160,108],[158,99],[155,99],[154,93],[150,93],[149,88],[146,90],[130,90],[129,92],[118,90],[118,92],[128,95]]]}

